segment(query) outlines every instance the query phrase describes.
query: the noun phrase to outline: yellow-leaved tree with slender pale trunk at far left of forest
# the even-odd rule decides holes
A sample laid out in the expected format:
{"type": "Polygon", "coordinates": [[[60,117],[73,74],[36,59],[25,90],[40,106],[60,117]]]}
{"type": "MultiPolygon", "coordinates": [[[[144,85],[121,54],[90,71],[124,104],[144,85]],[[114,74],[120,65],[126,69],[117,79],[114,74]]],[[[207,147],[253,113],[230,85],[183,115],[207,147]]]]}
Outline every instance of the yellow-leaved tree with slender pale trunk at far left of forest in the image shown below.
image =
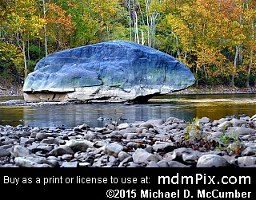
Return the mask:
{"type": "Polygon", "coordinates": [[[17,45],[22,51],[26,77],[26,49],[30,45],[30,39],[40,37],[39,30],[42,29],[44,20],[38,15],[35,0],[11,0],[4,2],[2,6],[6,10],[2,18],[2,29],[7,33],[8,42],[17,45]]]}

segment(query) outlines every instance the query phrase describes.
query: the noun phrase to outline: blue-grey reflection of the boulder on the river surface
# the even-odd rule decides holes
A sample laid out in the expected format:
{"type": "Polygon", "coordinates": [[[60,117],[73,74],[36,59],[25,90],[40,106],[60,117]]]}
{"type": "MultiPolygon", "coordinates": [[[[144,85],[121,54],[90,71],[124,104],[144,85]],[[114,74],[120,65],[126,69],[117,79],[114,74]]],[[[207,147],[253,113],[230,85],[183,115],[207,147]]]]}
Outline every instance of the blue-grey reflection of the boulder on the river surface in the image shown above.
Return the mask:
{"type": "Polygon", "coordinates": [[[79,124],[102,127],[108,120],[98,120],[99,117],[122,123],[150,119],[166,120],[170,116],[192,118],[194,112],[190,109],[184,113],[184,109],[176,109],[170,104],[75,104],[23,109],[24,123],[39,127],[74,127],[79,124]]]}

